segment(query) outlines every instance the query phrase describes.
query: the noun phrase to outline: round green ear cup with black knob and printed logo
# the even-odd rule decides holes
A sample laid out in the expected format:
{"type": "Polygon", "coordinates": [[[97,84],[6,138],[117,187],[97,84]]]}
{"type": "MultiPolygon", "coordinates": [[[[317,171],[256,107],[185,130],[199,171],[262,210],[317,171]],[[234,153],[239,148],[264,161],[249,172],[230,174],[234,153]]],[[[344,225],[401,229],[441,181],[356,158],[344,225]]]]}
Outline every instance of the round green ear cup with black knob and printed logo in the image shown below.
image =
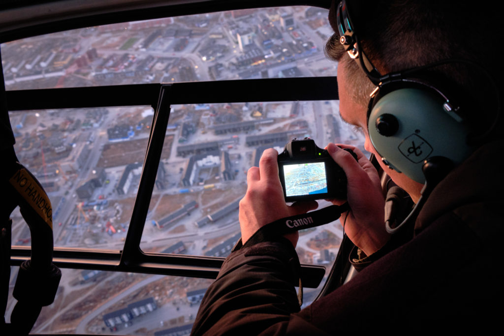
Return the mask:
{"type": "Polygon", "coordinates": [[[473,151],[468,128],[443,108],[446,100],[420,88],[401,88],[369,103],[367,126],[376,152],[390,168],[425,182],[423,161],[432,156],[460,164],[473,151]]]}

